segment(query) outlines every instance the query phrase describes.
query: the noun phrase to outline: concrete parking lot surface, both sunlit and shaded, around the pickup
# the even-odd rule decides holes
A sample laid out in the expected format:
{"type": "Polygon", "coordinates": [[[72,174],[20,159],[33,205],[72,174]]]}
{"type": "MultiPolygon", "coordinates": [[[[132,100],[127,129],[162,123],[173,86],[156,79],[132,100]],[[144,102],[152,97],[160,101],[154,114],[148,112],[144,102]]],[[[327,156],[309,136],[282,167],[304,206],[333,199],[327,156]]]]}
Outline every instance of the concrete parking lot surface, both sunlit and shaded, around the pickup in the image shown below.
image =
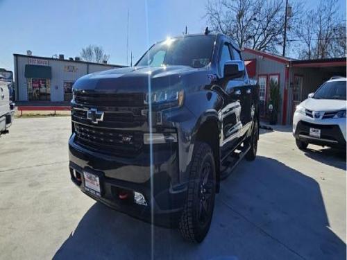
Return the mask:
{"type": "Polygon", "coordinates": [[[74,187],[70,132],[69,116],[16,119],[0,137],[0,259],[346,259],[346,155],[298,150],[290,128],[263,130],[221,183],[199,245],[74,187]]]}

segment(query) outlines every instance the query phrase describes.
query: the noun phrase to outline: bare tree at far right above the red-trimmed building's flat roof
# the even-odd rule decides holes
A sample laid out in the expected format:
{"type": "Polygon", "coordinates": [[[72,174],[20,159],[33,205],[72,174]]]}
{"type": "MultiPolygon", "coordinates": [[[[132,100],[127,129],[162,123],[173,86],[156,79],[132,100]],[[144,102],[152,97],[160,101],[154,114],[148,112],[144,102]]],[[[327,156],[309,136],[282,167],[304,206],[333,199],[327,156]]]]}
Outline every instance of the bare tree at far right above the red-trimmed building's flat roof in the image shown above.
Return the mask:
{"type": "Polygon", "coordinates": [[[323,1],[301,18],[296,35],[303,59],[346,56],[346,25],[338,13],[337,0],[323,1]]]}

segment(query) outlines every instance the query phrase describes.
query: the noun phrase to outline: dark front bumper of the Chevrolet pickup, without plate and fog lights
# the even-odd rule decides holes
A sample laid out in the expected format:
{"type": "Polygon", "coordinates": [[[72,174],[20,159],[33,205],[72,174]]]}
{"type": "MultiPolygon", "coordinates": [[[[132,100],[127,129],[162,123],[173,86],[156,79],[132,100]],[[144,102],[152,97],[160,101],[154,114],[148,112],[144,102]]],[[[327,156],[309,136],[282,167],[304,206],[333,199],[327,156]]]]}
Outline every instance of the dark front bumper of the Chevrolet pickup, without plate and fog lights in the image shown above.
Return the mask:
{"type": "Polygon", "coordinates": [[[156,149],[153,146],[153,167],[149,155],[148,151],[131,158],[101,155],[75,144],[73,134],[69,139],[71,180],[88,196],[117,211],[153,221],[156,225],[177,225],[187,191],[185,184],[171,186],[172,178],[178,176],[178,148],[156,149]],[[85,190],[83,171],[99,176],[101,197],[85,190]],[[79,174],[78,180],[76,173],[79,174]],[[119,198],[121,191],[127,191],[130,196],[126,200],[119,198]],[[134,191],[144,195],[146,206],[134,202],[134,191]]]}

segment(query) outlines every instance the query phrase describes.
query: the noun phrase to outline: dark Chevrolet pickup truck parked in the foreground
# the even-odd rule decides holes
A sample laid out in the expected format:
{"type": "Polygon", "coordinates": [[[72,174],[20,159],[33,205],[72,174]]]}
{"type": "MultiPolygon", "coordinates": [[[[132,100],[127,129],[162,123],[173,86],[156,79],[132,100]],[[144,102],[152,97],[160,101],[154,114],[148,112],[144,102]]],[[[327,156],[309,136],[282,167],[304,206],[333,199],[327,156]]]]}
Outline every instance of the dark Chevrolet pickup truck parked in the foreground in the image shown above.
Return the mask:
{"type": "Polygon", "coordinates": [[[69,171],[84,193],[201,242],[220,181],[255,159],[258,89],[229,37],[185,35],[135,67],[79,78],[71,120],[69,171]]]}

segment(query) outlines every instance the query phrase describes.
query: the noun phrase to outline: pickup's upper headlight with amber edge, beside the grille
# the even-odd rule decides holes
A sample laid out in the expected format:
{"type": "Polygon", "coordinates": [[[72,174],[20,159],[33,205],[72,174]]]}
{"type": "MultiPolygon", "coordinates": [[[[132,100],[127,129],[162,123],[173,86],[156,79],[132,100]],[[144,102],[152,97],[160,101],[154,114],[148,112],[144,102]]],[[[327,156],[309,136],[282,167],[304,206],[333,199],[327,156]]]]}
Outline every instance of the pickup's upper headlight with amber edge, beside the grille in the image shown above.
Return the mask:
{"type": "Polygon", "coordinates": [[[170,104],[180,107],[183,105],[184,96],[183,90],[162,90],[158,92],[151,92],[151,98],[149,94],[146,94],[144,103],[149,104],[151,101],[151,103],[155,105],[170,104]]]}

